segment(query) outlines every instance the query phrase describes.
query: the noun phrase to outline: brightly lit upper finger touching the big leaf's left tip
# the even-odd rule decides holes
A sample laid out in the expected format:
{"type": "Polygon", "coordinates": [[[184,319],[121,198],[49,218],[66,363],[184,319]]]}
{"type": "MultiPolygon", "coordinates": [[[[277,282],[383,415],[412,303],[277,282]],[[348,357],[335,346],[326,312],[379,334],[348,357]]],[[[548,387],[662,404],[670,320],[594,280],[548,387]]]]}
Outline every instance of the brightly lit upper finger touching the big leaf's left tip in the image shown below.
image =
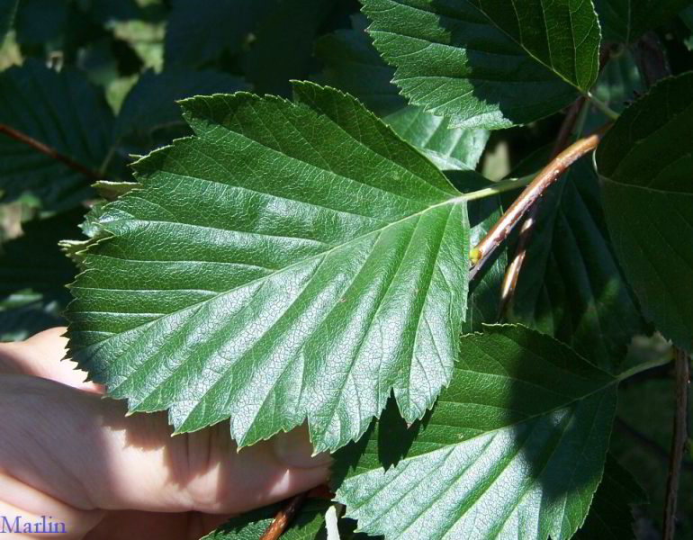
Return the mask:
{"type": "Polygon", "coordinates": [[[63,359],[67,352],[65,331],[65,327],[57,327],[23,342],[0,344],[0,373],[33,375],[86,392],[103,393],[101,384],[85,382],[85,372],[63,359]]]}

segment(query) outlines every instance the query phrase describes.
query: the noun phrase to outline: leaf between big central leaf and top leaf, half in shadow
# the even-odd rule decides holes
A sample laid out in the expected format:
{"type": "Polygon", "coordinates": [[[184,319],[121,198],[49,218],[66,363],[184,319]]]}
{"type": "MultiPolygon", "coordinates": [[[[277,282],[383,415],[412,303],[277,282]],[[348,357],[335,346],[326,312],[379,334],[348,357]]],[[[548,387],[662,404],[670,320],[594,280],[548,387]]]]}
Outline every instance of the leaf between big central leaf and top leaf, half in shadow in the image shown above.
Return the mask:
{"type": "Polygon", "coordinates": [[[358,17],[354,30],[338,30],[320,38],[316,52],[326,66],[321,80],[356,96],[439,168],[473,170],[489,132],[450,129],[448,119],[407,105],[390,82],[394,69],[380,58],[363,26],[358,17]]]}

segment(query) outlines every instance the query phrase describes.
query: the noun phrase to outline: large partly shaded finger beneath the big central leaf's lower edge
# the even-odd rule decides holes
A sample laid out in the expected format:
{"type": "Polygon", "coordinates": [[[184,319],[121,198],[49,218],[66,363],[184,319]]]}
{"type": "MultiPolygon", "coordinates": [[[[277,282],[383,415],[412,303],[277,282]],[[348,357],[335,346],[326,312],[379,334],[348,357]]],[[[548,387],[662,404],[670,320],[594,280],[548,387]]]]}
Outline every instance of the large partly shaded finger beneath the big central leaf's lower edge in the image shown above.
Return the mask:
{"type": "Polygon", "coordinates": [[[0,470],[76,509],[206,513],[264,506],[328,476],[328,459],[293,440],[301,432],[237,452],[226,423],[170,437],[165,415],[124,413],[121,401],[0,375],[0,470]]]}

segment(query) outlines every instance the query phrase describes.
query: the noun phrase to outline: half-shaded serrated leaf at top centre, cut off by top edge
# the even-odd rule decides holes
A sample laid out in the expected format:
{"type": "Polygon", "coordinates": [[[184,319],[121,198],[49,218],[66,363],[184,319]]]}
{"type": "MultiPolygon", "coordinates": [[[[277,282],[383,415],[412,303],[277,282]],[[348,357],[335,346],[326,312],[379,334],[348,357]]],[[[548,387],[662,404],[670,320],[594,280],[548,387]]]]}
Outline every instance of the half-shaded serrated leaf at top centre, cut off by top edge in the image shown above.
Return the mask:
{"type": "Polygon", "coordinates": [[[362,0],[393,82],[453,127],[538,120],[586,93],[599,71],[591,2],[362,0]]]}

